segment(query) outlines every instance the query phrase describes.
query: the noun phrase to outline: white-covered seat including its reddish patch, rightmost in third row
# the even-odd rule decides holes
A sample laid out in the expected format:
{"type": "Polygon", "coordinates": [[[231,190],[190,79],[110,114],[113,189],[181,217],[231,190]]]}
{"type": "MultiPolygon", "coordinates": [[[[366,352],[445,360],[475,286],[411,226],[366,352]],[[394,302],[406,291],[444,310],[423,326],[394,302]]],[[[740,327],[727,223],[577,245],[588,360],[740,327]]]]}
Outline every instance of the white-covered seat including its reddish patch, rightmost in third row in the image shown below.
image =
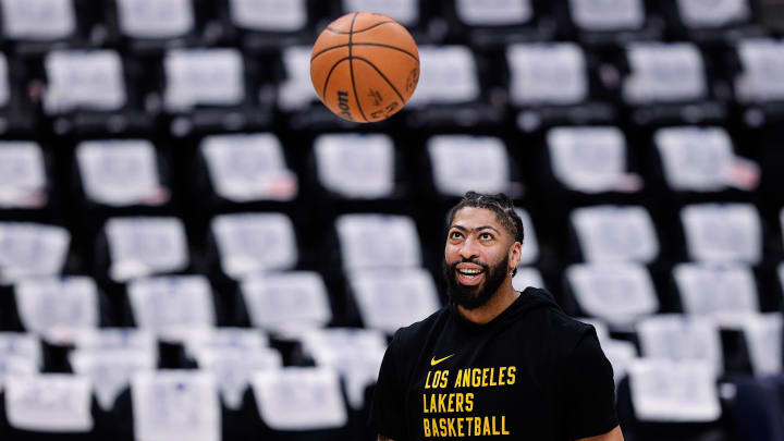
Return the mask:
{"type": "MultiPolygon", "coordinates": [[[[737,156],[723,127],[681,126],[658,130],[653,142],[667,187],[674,192],[751,192],[759,167],[737,156]]],[[[732,193],[736,196],[738,192],[732,193]]]]}

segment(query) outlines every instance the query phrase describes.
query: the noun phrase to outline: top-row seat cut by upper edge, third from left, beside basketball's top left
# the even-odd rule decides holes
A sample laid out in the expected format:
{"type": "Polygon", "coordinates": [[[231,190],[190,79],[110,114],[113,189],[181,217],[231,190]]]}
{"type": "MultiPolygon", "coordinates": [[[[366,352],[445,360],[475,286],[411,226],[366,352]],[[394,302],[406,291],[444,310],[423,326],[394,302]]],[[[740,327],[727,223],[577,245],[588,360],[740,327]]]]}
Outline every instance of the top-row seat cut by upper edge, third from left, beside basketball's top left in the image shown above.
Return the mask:
{"type": "Polygon", "coordinates": [[[307,0],[230,0],[226,24],[240,45],[267,51],[313,39],[307,0]]]}

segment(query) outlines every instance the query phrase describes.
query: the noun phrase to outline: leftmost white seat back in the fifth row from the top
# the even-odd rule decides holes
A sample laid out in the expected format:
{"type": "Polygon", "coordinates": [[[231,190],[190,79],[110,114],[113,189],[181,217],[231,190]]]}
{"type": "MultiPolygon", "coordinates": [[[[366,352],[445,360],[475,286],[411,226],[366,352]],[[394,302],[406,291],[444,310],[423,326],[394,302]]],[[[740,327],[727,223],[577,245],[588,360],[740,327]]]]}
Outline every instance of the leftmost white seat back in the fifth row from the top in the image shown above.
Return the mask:
{"type": "Polygon", "coordinates": [[[98,326],[98,287],[90,278],[22,280],[14,291],[20,319],[28,331],[49,336],[98,326]]]}

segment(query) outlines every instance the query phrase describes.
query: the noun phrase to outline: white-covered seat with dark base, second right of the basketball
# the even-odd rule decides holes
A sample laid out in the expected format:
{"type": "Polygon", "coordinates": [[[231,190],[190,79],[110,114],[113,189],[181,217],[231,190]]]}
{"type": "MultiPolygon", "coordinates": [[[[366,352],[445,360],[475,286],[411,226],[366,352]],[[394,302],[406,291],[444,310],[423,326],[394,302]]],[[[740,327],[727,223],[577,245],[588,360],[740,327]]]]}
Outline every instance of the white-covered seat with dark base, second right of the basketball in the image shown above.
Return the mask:
{"type": "Polygon", "coordinates": [[[574,42],[515,44],[506,47],[509,97],[519,109],[517,126],[532,132],[558,124],[610,123],[614,109],[597,101],[592,61],[574,42]]]}

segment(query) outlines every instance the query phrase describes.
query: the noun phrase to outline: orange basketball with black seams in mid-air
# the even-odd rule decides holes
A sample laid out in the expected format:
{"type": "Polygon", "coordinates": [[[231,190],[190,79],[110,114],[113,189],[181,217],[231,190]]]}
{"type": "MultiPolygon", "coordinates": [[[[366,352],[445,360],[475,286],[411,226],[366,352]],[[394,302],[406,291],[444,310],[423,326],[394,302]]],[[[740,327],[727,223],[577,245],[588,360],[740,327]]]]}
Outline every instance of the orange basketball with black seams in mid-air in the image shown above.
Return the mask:
{"type": "Polygon", "coordinates": [[[330,23],[314,45],[310,79],[336,115],[376,122],[395,114],[419,79],[419,52],[387,15],[353,12],[330,23]]]}

